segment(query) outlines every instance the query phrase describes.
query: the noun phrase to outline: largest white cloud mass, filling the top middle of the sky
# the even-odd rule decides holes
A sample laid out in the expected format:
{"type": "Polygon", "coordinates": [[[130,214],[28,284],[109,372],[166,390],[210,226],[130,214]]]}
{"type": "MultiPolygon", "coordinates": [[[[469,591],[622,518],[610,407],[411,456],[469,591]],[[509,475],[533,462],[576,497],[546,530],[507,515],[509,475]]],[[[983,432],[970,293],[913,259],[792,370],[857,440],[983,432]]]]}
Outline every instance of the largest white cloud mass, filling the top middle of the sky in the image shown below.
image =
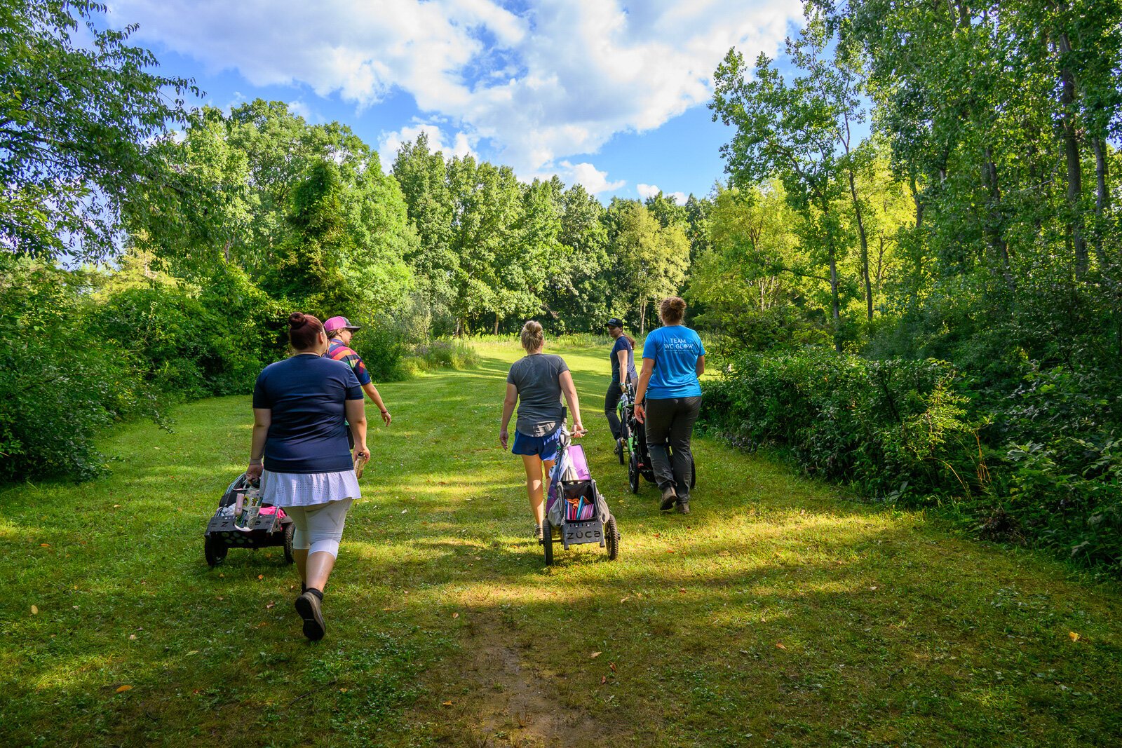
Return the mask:
{"type": "Polygon", "coordinates": [[[359,108],[405,91],[518,172],[708,101],[729,47],[774,54],[802,18],[800,0],[623,1],[117,0],[110,16],[255,85],[302,82],[359,108]]]}

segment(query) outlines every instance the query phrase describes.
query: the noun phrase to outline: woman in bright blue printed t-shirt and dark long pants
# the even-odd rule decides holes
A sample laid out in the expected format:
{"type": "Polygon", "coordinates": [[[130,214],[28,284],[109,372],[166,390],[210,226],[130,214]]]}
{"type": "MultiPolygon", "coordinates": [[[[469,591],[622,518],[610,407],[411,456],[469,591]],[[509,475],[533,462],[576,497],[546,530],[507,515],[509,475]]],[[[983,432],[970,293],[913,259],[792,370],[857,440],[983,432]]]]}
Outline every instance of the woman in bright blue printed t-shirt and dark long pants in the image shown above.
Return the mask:
{"type": "Polygon", "coordinates": [[[662,489],[663,511],[690,511],[693,454],[690,437],[701,408],[705,345],[682,324],[686,302],[671,296],[659,305],[662,326],[643,343],[643,371],[635,391],[635,417],[646,426],[651,468],[662,489]],[[672,453],[672,454],[671,454],[672,453]]]}

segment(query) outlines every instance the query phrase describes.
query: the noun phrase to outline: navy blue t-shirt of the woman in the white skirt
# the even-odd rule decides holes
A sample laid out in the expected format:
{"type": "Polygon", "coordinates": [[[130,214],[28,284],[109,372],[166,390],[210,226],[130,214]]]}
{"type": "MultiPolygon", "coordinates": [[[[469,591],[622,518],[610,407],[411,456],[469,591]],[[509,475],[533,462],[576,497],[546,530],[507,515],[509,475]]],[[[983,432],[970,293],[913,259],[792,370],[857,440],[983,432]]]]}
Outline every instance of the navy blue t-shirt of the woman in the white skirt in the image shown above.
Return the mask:
{"type": "Polygon", "coordinates": [[[324,473],[353,467],[347,400],[362,388],[349,366],[319,355],[294,355],[265,367],[254,385],[254,407],[273,410],[265,440],[265,469],[278,473],[324,473]]]}

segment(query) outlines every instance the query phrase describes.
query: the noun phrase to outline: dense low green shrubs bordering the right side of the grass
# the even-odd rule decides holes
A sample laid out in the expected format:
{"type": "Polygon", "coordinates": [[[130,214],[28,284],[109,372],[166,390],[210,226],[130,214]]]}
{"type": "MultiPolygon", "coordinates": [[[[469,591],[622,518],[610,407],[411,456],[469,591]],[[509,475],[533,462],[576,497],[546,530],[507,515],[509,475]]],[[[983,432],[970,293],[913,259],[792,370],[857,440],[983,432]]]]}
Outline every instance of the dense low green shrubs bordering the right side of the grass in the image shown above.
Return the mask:
{"type": "Polygon", "coordinates": [[[1122,570],[1122,388],[1032,370],[1006,397],[948,363],[811,350],[745,354],[702,382],[701,424],[774,445],[880,500],[954,504],[983,536],[1122,570]]]}

